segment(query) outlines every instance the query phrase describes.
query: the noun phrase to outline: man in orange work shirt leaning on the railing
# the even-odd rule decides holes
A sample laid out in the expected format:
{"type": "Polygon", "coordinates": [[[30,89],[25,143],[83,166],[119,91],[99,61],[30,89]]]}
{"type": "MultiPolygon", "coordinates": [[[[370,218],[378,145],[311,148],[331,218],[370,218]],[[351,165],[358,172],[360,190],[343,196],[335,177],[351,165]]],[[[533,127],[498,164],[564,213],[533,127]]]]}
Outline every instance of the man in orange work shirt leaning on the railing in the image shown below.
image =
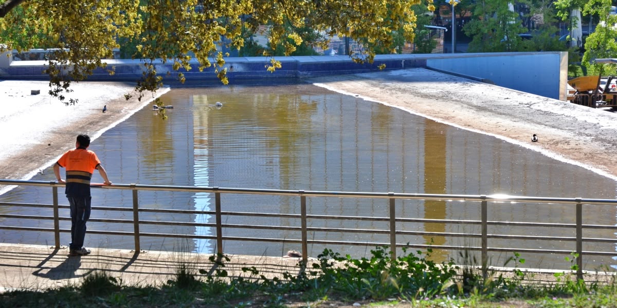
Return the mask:
{"type": "Polygon", "coordinates": [[[90,137],[88,135],[77,136],[75,150],[68,150],[54,164],[54,174],[60,184],[66,183],[65,193],[71,209],[71,243],[69,254],[71,256],[85,256],[90,251],[83,247],[86,237],[86,222],[90,218],[90,179],[94,169],[97,169],[103,178],[105,185],[112,182],[107,178],[107,172],[101,166],[101,161],[88,147],[90,137]],[[60,177],[60,167],[66,169],[66,180],[60,177]]]}

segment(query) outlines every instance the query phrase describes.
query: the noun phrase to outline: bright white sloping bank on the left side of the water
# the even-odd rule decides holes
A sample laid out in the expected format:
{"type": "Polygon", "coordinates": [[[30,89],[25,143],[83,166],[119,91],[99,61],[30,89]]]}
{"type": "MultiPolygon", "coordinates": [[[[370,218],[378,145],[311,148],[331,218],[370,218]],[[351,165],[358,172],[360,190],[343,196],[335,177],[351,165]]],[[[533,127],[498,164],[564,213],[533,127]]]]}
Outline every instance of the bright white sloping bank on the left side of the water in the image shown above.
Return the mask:
{"type": "MultiPolygon", "coordinates": [[[[48,94],[48,84],[0,81],[2,179],[29,179],[74,147],[77,134],[96,139],[155,99],[147,95],[140,102],[133,92],[134,84],[84,82],[73,83],[73,92],[65,95],[65,102],[78,99],[78,103],[65,105],[48,94]],[[40,94],[31,95],[31,90],[40,94]],[[126,100],[125,94],[133,94],[133,98],[126,100]],[[105,105],[107,111],[102,113],[105,105]]],[[[167,91],[160,89],[157,95],[167,91]]]]}

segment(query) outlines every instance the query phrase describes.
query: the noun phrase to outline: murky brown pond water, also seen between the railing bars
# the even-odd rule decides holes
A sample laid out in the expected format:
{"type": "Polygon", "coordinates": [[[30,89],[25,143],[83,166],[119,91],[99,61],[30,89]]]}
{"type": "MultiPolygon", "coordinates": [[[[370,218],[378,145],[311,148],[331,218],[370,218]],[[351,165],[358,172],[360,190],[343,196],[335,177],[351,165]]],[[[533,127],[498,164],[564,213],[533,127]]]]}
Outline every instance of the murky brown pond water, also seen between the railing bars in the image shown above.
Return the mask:
{"type": "MultiPolygon", "coordinates": [[[[239,188],[303,189],[355,192],[404,192],[486,194],[507,193],[544,197],[615,198],[615,181],[586,169],[553,160],[518,145],[453,128],[405,111],[336,94],[309,84],[281,86],[229,86],[174,89],[162,99],[174,105],[162,121],[146,107],[129,120],[105,132],[91,145],[113,182],[201,185],[239,188]],[[223,107],[217,108],[216,102],[223,107]]],[[[478,119],[481,121],[481,119],[478,119]]],[[[95,179],[98,179],[95,175],[95,179]]],[[[33,180],[53,180],[51,169],[33,180]]],[[[51,203],[49,188],[18,188],[2,200],[51,203]]],[[[212,209],[209,194],[139,193],[146,208],[212,209]]],[[[94,205],[131,206],[131,192],[94,190],[94,205]]],[[[60,203],[66,204],[61,198],[60,203]]],[[[387,216],[387,200],[309,198],[309,212],[342,216],[387,216]]],[[[223,211],[299,214],[297,198],[223,195],[223,211]]],[[[2,213],[35,214],[36,209],[0,208],[2,213]]],[[[397,201],[398,215],[430,219],[479,220],[479,204],[452,201],[397,201]]],[[[68,216],[68,213],[60,213],[68,216]]],[[[93,217],[131,219],[130,213],[94,212],[93,217]]],[[[489,206],[491,221],[574,222],[573,206],[489,206]]],[[[211,221],[207,216],[160,216],[141,213],[150,221],[211,221]]],[[[614,225],[614,208],[585,208],[584,224],[614,225]]],[[[229,218],[227,224],[279,224],[254,217],[229,218]]],[[[296,221],[280,219],[284,224],[296,221]]],[[[7,225],[31,221],[6,219],[7,225]]],[[[62,227],[68,228],[68,222],[62,227]]],[[[52,222],[36,222],[51,227],[52,222]]],[[[312,221],[309,227],[385,229],[376,222],[312,221]]],[[[91,222],[91,230],[131,231],[131,224],[91,222]]],[[[474,232],[471,226],[400,224],[405,230],[474,232]]],[[[491,227],[489,233],[574,236],[573,230],[537,230],[529,227],[491,227]],[[491,229],[492,228],[492,229],[491,229]]],[[[142,226],[141,232],[210,234],[207,228],[142,226]]],[[[247,236],[242,229],[225,230],[226,236],[247,236]]],[[[251,231],[251,236],[299,238],[292,232],[251,231]]],[[[52,243],[53,235],[0,230],[10,243],[52,243]]],[[[589,231],[585,237],[615,238],[612,232],[589,231]]],[[[381,241],[387,236],[315,233],[310,238],[330,241],[381,241]]],[[[62,234],[63,245],[68,234],[62,234]]],[[[431,237],[407,237],[400,243],[423,244],[431,237]]],[[[433,238],[436,245],[479,246],[479,240],[433,238]]],[[[616,239],[617,242],[617,239],[616,239]]],[[[517,241],[489,241],[490,246],[518,245],[517,241]]],[[[133,237],[102,237],[89,234],[86,245],[133,248],[133,237]]],[[[226,241],[231,254],[278,256],[297,245],[226,241]]],[[[574,243],[520,241],[524,248],[574,250],[574,243]]],[[[201,240],[143,238],[143,249],[183,249],[211,252],[213,243],[201,240]]],[[[324,246],[310,246],[317,256],[324,246]]],[[[367,249],[329,247],[341,253],[364,256],[367,249]]],[[[614,244],[586,245],[584,250],[615,251],[614,244]]],[[[445,253],[436,249],[436,255],[445,253]]],[[[495,254],[506,259],[511,254],[495,254]]],[[[563,256],[523,256],[526,266],[562,266],[563,256]],[[535,260],[534,260],[535,259],[535,260]]],[[[587,258],[590,265],[613,264],[608,257],[587,258]]],[[[510,264],[513,265],[513,264],[510,264]]],[[[567,266],[566,266],[567,267],[567,266]]]]}

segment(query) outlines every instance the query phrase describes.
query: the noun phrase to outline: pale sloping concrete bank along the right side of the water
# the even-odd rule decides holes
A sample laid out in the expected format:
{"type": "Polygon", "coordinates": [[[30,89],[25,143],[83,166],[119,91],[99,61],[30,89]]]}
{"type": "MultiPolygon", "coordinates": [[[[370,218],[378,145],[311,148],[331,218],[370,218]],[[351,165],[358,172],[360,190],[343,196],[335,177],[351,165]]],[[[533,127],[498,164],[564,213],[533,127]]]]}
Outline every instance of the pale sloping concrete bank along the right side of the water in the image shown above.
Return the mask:
{"type": "MultiPolygon", "coordinates": [[[[308,81],[531,148],[617,179],[617,114],[424,68],[308,81]],[[533,134],[539,142],[531,142],[533,134]]],[[[576,174],[572,175],[576,178],[576,174]]]]}

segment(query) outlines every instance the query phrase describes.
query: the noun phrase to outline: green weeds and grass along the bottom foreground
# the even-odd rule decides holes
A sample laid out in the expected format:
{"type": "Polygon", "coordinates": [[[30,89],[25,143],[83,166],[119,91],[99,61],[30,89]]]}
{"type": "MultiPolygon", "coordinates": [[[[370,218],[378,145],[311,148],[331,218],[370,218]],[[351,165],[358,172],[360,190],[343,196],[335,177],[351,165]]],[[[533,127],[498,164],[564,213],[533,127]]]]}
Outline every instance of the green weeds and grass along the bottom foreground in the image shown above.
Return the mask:
{"type": "MultiPolygon", "coordinates": [[[[266,278],[254,267],[242,269],[246,277],[229,277],[225,256],[210,259],[217,266],[205,280],[181,266],[162,286],[126,286],[96,272],[78,285],[0,294],[0,307],[615,307],[617,302],[614,278],[584,283],[563,273],[554,282],[529,284],[529,273],[518,270],[524,263],[518,254],[508,260],[513,275],[491,272],[487,278],[476,266],[436,264],[430,249],[405,251],[395,260],[386,248],[371,254],[352,259],[326,249],[304,273],[282,279],[266,278]]],[[[566,261],[576,264],[574,259],[566,261]]]]}

